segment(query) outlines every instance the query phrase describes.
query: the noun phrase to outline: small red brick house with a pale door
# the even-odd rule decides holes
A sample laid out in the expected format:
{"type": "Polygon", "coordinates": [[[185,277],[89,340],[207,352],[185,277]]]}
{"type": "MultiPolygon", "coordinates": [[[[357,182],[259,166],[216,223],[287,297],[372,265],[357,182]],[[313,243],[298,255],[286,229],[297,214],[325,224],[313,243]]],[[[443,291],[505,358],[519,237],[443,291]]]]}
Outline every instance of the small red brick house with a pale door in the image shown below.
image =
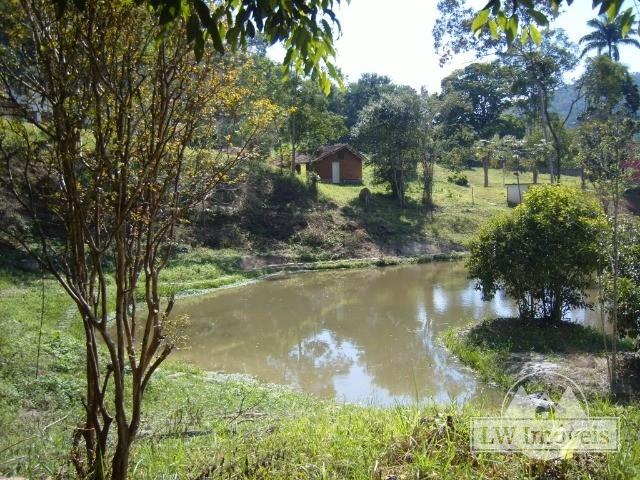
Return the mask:
{"type": "Polygon", "coordinates": [[[364,161],[364,155],[345,143],[326,146],[313,158],[296,158],[296,164],[306,163],[307,172],[317,173],[325,183],[362,183],[364,161]]]}

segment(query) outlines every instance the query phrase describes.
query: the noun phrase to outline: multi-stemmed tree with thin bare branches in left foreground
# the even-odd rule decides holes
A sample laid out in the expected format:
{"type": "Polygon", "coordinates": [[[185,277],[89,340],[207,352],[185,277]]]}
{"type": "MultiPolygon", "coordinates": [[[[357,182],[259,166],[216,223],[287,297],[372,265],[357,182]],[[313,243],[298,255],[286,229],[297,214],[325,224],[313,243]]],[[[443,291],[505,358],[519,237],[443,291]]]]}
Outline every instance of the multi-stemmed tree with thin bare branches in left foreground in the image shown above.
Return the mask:
{"type": "Polygon", "coordinates": [[[196,63],[176,25],[117,0],[62,18],[23,0],[5,24],[2,96],[19,118],[3,125],[2,186],[26,220],[2,237],[58,280],[84,327],[86,417],[72,455],[82,478],[126,478],[145,389],[179,337],[159,281],[176,228],[270,115],[263,105],[245,118],[233,155],[222,143],[192,148],[196,129],[214,138],[212,120],[243,92],[232,66],[196,63]]]}

